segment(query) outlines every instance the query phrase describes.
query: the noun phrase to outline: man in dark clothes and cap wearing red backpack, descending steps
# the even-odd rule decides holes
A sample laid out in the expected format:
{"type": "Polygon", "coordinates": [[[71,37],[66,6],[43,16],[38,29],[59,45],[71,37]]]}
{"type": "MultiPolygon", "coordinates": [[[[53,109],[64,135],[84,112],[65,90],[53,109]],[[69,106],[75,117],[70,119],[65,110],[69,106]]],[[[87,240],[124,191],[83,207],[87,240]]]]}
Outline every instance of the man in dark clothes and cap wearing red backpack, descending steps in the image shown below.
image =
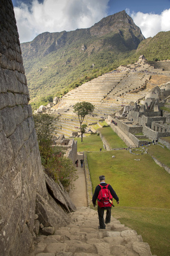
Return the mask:
{"type": "Polygon", "coordinates": [[[99,216],[99,229],[105,229],[105,224],[108,224],[111,222],[111,208],[112,208],[112,199],[114,198],[119,204],[118,196],[116,195],[116,192],[113,190],[112,186],[105,183],[105,176],[101,175],[99,176],[100,184],[97,185],[95,188],[95,193],[92,197],[92,203],[94,204],[94,207],[96,206],[96,200],[97,200],[97,212],[99,216]],[[100,199],[101,195],[104,196],[108,194],[107,199],[100,199]],[[109,203],[109,201],[111,203],[109,203]],[[105,224],[104,224],[104,210],[107,210],[106,218],[105,218],[105,224]]]}

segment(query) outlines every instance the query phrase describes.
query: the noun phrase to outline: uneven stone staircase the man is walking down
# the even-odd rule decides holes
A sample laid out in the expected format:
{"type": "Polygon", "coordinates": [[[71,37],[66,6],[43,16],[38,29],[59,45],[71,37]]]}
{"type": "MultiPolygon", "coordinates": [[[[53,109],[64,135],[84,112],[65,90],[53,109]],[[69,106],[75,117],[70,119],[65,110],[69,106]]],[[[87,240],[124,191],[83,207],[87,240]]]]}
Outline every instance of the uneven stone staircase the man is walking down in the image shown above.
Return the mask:
{"type": "Polygon", "coordinates": [[[150,246],[135,230],[111,217],[106,229],[98,229],[96,210],[78,208],[70,214],[70,224],[50,236],[38,236],[29,256],[150,256],[150,246]]]}

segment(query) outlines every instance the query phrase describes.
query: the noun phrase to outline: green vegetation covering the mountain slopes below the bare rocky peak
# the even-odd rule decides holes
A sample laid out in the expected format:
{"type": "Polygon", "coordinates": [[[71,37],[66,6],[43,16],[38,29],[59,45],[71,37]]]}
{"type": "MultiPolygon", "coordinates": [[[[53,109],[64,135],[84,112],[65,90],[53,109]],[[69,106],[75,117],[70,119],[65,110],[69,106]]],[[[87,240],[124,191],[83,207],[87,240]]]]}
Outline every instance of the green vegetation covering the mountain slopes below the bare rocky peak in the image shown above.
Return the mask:
{"type": "Polygon", "coordinates": [[[128,31],[124,27],[121,36],[113,31],[100,37],[92,36],[88,29],[46,32],[21,44],[33,110],[46,105],[48,97],[62,97],[84,82],[134,63],[140,55],[151,61],[170,59],[169,31],[145,40],[141,34],[135,35],[139,45],[128,31]],[[59,43],[56,48],[54,42],[59,43]]]}

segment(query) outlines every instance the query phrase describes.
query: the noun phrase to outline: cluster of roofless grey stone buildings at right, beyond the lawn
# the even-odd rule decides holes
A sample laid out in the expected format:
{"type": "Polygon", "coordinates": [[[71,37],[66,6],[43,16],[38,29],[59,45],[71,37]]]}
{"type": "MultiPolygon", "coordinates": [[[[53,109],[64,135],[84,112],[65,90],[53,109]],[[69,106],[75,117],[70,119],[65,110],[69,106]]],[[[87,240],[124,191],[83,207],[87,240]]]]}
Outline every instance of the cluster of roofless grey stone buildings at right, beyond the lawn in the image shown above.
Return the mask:
{"type": "MultiPolygon", "coordinates": [[[[151,141],[159,141],[160,138],[169,137],[170,115],[163,114],[160,110],[160,107],[164,106],[164,102],[168,102],[169,94],[169,90],[163,90],[163,92],[161,92],[160,88],[156,86],[151,90],[148,98],[146,97],[146,99],[143,100],[145,105],[131,102],[128,106],[124,106],[124,109],[120,112],[109,115],[108,120],[111,122],[112,129],[118,133],[116,129],[117,126],[125,136],[130,138],[131,144],[128,144],[129,147],[131,147],[132,144],[134,147],[148,144],[147,138],[151,141]],[[159,102],[159,100],[162,101],[159,102]],[[143,135],[136,135],[138,133],[143,133],[143,135]]],[[[122,136],[122,139],[125,141],[124,136],[122,136]]],[[[167,144],[165,146],[167,146],[167,144]]]]}

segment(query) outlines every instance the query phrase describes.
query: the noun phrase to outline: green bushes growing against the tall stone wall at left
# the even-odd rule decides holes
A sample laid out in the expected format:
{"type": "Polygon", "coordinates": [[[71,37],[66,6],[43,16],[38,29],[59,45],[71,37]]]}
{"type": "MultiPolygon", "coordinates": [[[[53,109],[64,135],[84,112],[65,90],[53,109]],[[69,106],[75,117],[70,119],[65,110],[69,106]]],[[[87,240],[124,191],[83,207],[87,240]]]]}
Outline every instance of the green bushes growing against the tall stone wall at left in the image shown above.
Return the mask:
{"type": "Polygon", "coordinates": [[[62,147],[52,146],[52,132],[54,130],[52,115],[39,114],[33,116],[41,163],[45,172],[54,179],[60,181],[67,191],[73,188],[73,180],[77,179],[76,169],[71,159],[66,158],[62,147]]]}

